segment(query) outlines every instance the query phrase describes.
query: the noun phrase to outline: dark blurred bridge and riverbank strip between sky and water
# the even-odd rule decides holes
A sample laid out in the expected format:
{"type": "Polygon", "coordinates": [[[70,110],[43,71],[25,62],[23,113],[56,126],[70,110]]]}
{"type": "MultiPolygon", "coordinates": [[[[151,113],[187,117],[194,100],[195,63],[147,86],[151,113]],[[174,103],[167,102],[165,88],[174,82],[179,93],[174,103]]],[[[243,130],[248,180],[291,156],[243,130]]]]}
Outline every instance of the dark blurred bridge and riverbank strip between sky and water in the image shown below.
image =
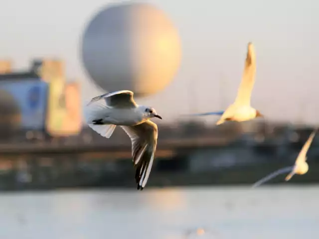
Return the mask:
{"type": "MultiPolygon", "coordinates": [[[[169,127],[165,130],[159,125],[149,186],[253,183],[266,172],[293,164],[312,130],[286,128],[269,133],[257,127],[242,133],[228,125],[224,129],[186,127],[185,132],[169,127]]],[[[110,139],[91,129],[73,137],[49,139],[0,144],[0,190],[135,187],[131,141],[123,130],[116,130],[110,139]]],[[[315,138],[308,154],[313,173],[319,173],[316,155],[315,138]]],[[[313,175],[297,180],[318,181],[313,175]]]]}

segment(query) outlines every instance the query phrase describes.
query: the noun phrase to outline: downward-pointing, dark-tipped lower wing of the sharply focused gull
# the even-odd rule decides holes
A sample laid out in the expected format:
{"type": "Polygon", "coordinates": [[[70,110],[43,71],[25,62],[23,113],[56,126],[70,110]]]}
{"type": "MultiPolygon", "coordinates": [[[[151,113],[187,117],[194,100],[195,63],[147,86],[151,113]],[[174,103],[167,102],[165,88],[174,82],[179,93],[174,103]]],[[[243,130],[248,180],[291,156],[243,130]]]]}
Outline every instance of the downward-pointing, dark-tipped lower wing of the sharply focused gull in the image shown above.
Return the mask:
{"type": "Polygon", "coordinates": [[[121,126],[132,141],[132,157],[136,168],[138,190],[143,190],[149,179],[157,147],[158,127],[148,120],[135,126],[121,126]]]}

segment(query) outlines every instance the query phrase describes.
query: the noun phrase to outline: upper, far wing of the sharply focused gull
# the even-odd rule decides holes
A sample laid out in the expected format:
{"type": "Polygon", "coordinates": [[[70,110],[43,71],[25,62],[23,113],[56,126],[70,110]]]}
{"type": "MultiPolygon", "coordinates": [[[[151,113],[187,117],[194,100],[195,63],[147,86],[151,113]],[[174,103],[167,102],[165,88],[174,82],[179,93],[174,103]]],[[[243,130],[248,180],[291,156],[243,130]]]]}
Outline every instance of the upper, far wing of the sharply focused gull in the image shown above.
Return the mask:
{"type": "Polygon", "coordinates": [[[132,91],[115,91],[94,97],[88,105],[104,99],[106,105],[111,108],[136,108],[137,104],[133,99],[133,95],[134,93],[132,91]]]}

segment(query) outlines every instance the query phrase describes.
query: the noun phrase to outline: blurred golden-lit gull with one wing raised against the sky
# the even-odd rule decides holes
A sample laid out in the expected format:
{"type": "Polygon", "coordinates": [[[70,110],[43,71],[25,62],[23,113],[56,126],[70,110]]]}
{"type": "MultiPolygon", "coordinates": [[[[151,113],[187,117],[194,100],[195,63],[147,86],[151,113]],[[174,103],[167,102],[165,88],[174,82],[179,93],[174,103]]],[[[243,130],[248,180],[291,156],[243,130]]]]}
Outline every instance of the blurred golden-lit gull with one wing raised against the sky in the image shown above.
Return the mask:
{"type": "Polygon", "coordinates": [[[246,121],[263,117],[259,111],[250,106],[251,92],[255,83],[256,74],[256,56],[254,46],[251,42],[248,43],[247,56],[245,62],[244,73],[237,92],[235,102],[230,105],[226,111],[210,112],[203,114],[194,114],[193,116],[206,115],[221,115],[216,125],[222,124],[225,121],[246,121]]]}

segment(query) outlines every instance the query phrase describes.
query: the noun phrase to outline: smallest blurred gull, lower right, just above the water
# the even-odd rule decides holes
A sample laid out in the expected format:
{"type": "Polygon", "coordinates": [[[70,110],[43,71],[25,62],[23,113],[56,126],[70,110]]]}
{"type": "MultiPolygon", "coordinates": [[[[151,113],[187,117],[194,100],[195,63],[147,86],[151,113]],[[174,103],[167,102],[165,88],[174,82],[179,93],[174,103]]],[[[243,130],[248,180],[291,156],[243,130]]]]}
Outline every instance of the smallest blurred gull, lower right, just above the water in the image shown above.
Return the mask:
{"type": "Polygon", "coordinates": [[[316,132],[317,132],[317,128],[310,134],[307,142],[305,143],[305,145],[301,149],[301,151],[296,159],[296,162],[293,166],[281,168],[281,169],[271,173],[270,175],[268,175],[268,176],[262,178],[261,180],[259,180],[258,182],[256,182],[253,185],[253,187],[258,187],[261,184],[276,177],[277,175],[282,174],[282,173],[288,173],[289,171],[291,171],[291,172],[286,176],[286,178],[285,178],[286,181],[289,181],[292,178],[292,176],[294,176],[295,174],[303,175],[303,174],[307,173],[309,166],[308,166],[308,163],[306,162],[306,160],[307,160],[306,155],[307,155],[308,149],[310,147],[310,144],[312,143],[312,141],[316,135],[316,132]]]}

